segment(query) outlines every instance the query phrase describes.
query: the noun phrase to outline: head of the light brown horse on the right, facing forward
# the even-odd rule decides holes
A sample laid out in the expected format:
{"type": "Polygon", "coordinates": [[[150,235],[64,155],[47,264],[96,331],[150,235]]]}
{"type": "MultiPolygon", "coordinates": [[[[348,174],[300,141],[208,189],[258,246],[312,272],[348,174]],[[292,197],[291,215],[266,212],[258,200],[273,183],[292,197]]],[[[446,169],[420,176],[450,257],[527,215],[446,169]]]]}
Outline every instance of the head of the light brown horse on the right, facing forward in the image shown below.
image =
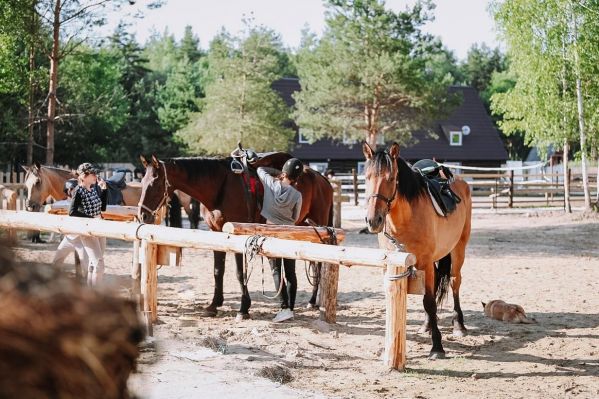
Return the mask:
{"type": "Polygon", "coordinates": [[[397,197],[397,158],[399,145],[375,152],[367,143],[362,145],[366,165],[366,224],[371,233],[380,233],[385,217],[397,197]]]}

